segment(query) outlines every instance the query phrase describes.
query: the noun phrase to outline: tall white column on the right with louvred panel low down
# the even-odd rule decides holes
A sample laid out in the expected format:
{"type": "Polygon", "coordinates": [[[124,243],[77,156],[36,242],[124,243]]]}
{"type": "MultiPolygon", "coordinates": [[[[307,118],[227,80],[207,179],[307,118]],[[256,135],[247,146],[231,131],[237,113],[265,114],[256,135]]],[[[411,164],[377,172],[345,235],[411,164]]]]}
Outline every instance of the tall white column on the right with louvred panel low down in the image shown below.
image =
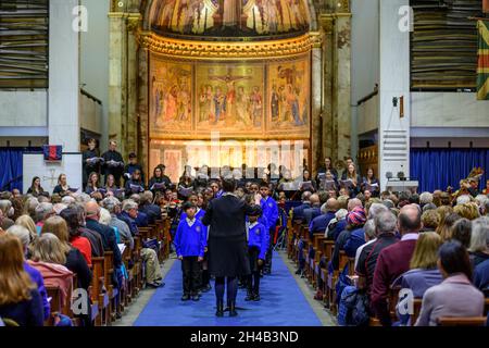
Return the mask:
{"type": "Polygon", "coordinates": [[[379,178],[386,187],[386,173],[410,175],[410,32],[400,9],[409,0],[380,0],[379,78],[379,178]],[[400,25],[401,23],[401,25],[400,25]],[[401,27],[400,27],[401,26],[401,27]],[[404,97],[404,117],[400,117],[400,97],[404,97]],[[398,98],[397,107],[392,99],[398,98]]]}

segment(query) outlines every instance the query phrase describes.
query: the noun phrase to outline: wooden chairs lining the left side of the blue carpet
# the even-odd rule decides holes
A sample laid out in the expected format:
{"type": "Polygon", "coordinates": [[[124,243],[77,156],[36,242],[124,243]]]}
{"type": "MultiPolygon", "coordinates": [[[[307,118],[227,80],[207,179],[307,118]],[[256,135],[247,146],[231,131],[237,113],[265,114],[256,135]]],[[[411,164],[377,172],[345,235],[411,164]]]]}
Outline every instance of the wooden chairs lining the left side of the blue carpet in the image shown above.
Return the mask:
{"type": "MultiPolygon", "coordinates": [[[[112,284],[115,272],[113,265],[113,252],[105,251],[103,257],[92,258],[92,282],[88,289],[90,297],[90,321],[95,326],[111,325],[116,320],[116,313],[124,313],[129,303],[134,302],[140,290],[145,286],[145,265],[141,259],[143,243],[148,239],[156,239],[159,243],[158,257],[160,262],[170,256],[170,226],[171,221],[164,217],[155,222],[154,225],[140,227],[139,235],[134,237],[134,249],[126,248],[122,253],[122,261],[127,272],[125,286],[118,290],[112,284]]],[[[76,274],[73,279],[73,287],[77,285],[76,274]]],[[[79,325],[80,321],[72,310],[73,288],[70,289],[66,300],[62,301],[62,291],[59,287],[46,287],[48,297],[51,298],[51,318],[45,322],[46,326],[55,324],[57,314],[64,314],[72,319],[74,325],[79,325]]]]}

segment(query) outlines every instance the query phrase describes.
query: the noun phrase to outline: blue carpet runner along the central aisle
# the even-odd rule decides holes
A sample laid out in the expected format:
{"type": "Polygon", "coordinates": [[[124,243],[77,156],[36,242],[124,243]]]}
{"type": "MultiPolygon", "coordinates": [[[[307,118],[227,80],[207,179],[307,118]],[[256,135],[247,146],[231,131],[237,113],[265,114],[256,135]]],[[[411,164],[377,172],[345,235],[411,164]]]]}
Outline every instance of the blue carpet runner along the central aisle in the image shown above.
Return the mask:
{"type": "Polygon", "coordinates": [[[134,325],[321,326],[319,319],[277,253],[274,254],[272,271],[272,275],[261,279],[261,301],[244,301],[246,290],[239,289],[238,316],[229,318],[225,312],[224,318],[216,318],[214,288],[202,294],[198,302],[180,300],[181,268],[180,261],[176,260],[164,279],[166,285],[156,289],[134,325]]]}

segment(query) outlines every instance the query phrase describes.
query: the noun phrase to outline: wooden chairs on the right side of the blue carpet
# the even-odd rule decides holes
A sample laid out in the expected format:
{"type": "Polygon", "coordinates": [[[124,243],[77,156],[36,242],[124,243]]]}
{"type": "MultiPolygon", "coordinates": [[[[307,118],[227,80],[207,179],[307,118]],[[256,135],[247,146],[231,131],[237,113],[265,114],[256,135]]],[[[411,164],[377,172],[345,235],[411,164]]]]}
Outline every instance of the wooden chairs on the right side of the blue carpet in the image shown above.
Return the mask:
{"type": "MultiPolygon", "coordinates": [[[[355,282],[354,276],[354,258],[349,258],[344,251],[339,253],[339,271],[335,271],[329,275],[326,269],[327,262],[331,261],[333,253],[335,251],[335,241],[328,240],[324,234],[314,234],[311,239],[309,227],[302,224],[301,221],[293,221],[289,219],[288,223],[288,245],[287,252],[289,259],[294,261],[299,265],[300,257],[305,260],[304,275],[311,286],[318,290],[318,294],[323,294],[323,302],[327,309],[329,309],[333,315],[338,313],[337,308],[337,294],[336,283],[338,282],[339,274],[348,265],[349,277],[352,283],[355,282]],[[299,240],[302,240],[303,248],[302,254],[299,252],[299,240]],[[314,250],[314,258],[310,258],[310,248],[314,250]],[[324,260],[323,266],[319,266],[319,261],[324,260]]],[[[397,321],[396,306],[399,301],[400,287],[391,288],[388,297],[388,306],[391,318],[397,321]]],[[[411,315],[411,324],[416,322],[422,306],[422,299],[414,299],[413,302],[413,315],[411,315]]],[[[489,311],[489,299],[486,299],[485,315],[489,311]]],[[[442,326],[456,326],[456,325],[485,325],[487,316],[481,318],[440,318],[439,325],[442,326]]],[[[380,322],[376,318],[371,319],[371,326],[379,326],[380,322]]]]}

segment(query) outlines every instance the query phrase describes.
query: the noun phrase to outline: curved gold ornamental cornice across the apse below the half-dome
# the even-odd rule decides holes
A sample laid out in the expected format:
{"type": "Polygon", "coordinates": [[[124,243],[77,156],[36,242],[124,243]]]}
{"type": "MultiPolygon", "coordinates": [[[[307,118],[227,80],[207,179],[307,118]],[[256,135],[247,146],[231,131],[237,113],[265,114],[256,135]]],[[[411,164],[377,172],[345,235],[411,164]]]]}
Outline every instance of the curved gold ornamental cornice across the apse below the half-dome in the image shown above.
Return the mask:
{"type": "Polygon", "coordinates": [[[162,37],[152,32],[140,32],[141,48],[162,55],[180,59],[247,59],[267,60],[296,57],[312,50],[317,37],[305,34],[299,37],[273,41],[191,41],[162,37]]]}

